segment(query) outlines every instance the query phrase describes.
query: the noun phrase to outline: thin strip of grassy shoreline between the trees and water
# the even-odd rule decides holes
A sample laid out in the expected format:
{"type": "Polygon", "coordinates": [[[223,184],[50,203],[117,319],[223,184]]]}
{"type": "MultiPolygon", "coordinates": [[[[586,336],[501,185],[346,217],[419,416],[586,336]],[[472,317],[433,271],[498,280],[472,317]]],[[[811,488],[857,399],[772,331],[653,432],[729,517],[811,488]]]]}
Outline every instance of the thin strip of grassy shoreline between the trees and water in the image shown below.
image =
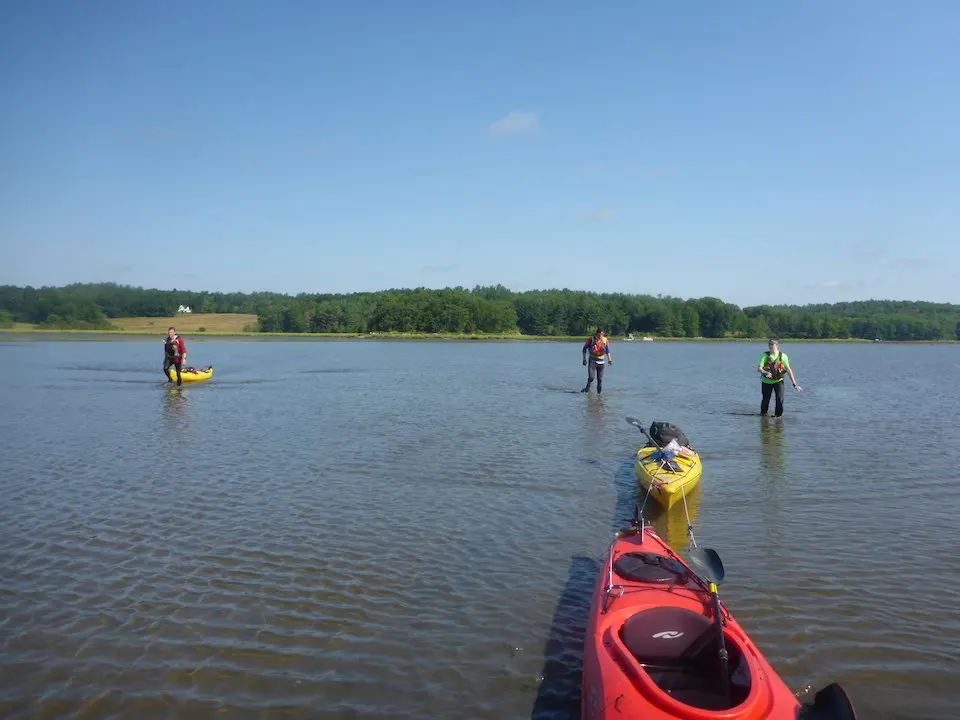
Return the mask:
{"type": "MultiPolygon", "coordinates": [[[[193,342],[203,338],[231,339],[231,338],[250,338],[262,340],[393,340],[393,341],[413,341],[413,340],[432,340],[432,341],[454,341],[454,342],[563,342],[563,343],[582,343],[586,335],[521,335],[514,334],[496,334],[496,333],[402,333],[402,332],[382,332],[382,333],[270,333],[270,332],[190,332],[181,333],[184,338],[193,342]]],[[[71,330],[71,329],[52,329],[52,328],[0,328],[0,338],[13,339],[15,336],[24,336],[25,338],[50,338],[63,336],[75,339],[130,339],[146,340],[148,338],[162,338],[165,333],[147,332],[140,330],[71,330]]],[[[649,340],[627,340],[624,337],[611,337],[609,340],[614,345],[633,345],[651,342],[649,340]]],[[[745,337],[724,337],[724,338],[687,338],[687,337],[653,337],[654,343],[749,343],[765,344],[766,337],[745,338],[745,337]]],[[[867,345],[957,345],[957,340],[883,340],[875,342],[873,340],[863,340],[860,338],[780,338],[783,344],[798,343],[818,343],[818,344],[867,344],[867,345]]]]}

